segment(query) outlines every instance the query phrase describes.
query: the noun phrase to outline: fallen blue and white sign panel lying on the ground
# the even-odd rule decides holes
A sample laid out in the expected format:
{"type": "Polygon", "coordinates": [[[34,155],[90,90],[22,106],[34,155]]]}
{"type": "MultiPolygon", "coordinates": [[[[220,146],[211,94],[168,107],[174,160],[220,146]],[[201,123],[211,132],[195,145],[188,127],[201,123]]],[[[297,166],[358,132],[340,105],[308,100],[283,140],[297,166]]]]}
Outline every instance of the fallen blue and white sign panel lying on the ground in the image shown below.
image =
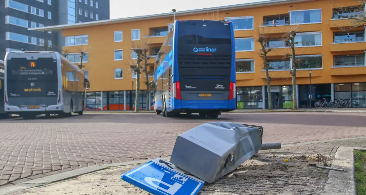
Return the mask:
{"type": "Polygon", "coordinates": [[[154,195],[196,195],[205,183],[160,158],[123,173],[121,178],[154,195]]]}

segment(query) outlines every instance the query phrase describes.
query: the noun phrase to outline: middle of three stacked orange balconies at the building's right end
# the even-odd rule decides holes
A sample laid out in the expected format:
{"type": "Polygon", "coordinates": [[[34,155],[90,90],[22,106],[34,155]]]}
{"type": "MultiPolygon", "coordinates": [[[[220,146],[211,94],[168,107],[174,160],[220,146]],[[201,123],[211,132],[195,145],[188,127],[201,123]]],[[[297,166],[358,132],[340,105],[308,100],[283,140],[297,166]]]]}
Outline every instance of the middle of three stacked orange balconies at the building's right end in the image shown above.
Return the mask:
{"type": "Polygon", "coordinates": [[[355,38],[353,40],[335,41],[335,43],[330,43],[330,52],[332,53],[360,50],[366,50],[366,42],[364,38],[355,38]]]}

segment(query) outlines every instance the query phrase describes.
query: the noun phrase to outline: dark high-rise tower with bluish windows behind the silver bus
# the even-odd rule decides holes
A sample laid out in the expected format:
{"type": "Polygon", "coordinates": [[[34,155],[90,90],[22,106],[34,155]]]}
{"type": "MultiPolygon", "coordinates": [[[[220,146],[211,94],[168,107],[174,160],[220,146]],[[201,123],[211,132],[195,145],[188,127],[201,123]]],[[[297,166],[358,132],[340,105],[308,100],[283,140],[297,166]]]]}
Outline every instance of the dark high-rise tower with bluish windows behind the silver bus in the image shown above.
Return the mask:
{"type": "Polygon", "coordinates": [[[62,50],[60,33],[28,28],[109,19],[109,0],[3,0],[0,4],[0,59],[6,51],[62,50]],[[4,39],[5,38],[5,39],[4,39]]]}

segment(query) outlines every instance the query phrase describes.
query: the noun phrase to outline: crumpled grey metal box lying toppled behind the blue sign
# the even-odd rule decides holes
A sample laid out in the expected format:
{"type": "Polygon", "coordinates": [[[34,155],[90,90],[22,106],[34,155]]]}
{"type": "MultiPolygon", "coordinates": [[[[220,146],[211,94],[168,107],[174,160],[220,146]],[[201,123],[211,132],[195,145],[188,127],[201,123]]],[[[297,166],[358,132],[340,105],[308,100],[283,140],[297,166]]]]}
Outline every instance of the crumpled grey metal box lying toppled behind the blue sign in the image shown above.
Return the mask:
{"type": "Polygon", "coordinates": [[[177,137],[169,162],[212,183],[262,148],[261,130],[230,122],[199,125],[177,137]]]}

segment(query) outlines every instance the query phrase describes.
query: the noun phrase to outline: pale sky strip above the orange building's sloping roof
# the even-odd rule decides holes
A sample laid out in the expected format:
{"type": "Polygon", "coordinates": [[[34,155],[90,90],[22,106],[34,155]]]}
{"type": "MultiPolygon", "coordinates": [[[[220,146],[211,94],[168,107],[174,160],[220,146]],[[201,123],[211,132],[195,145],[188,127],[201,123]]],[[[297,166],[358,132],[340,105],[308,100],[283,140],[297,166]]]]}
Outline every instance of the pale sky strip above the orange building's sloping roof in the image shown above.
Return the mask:
{"type": "Polygon", "coordinates": [[[264,0],[110,0],[110,17],[111,19],[127,18],[163,14],[172,12],[172,9],[179,12],[259,1],[264,0]]]}

